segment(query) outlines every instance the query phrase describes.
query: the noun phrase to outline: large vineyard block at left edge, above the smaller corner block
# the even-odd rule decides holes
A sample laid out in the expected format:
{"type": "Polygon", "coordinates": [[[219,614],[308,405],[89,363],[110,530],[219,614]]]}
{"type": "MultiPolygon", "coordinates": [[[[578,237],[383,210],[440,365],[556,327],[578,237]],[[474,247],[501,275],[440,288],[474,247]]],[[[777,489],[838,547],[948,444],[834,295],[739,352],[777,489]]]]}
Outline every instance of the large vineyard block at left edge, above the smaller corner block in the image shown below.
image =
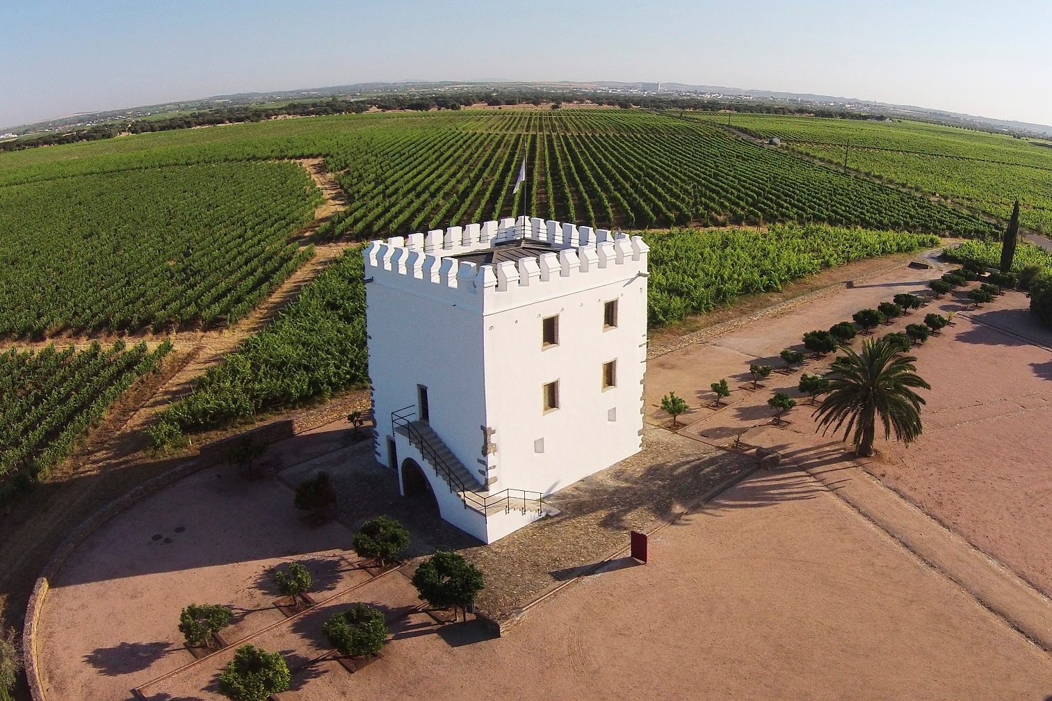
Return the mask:
{"type": "Polygon", "coordinates": [[[232,322],[312,251],[295,163],[211,163],[0,187],[0,337],[232,322]]]}

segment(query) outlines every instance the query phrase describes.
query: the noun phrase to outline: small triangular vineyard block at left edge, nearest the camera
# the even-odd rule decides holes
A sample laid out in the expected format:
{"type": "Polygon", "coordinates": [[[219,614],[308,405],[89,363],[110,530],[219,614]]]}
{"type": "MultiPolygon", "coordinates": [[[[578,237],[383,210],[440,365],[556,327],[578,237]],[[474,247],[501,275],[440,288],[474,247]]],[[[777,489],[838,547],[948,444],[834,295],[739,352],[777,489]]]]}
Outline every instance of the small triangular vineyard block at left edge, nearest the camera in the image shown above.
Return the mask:
{"type": "Polygon", "coordinates": [[[118,341],[0,354],[0,499],[65,459],[106,408],[171,350],[118,341]]]}

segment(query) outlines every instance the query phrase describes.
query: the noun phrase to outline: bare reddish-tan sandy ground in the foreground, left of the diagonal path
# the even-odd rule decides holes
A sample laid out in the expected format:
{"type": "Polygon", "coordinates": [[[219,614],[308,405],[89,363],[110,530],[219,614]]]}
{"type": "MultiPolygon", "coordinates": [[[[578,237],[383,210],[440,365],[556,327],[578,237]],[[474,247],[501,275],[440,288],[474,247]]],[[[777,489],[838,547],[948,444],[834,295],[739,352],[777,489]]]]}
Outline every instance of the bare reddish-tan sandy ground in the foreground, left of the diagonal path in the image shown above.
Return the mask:
{"type": "Polygon", "coordinates": [[[365,670],[325,662],[280,698],[1040,701],[1052,689],[1044,652],[798,473],[725,493],[659,532],[650,564],[583,580],[510,637],[461,627],[396,634],[365,670]]]}

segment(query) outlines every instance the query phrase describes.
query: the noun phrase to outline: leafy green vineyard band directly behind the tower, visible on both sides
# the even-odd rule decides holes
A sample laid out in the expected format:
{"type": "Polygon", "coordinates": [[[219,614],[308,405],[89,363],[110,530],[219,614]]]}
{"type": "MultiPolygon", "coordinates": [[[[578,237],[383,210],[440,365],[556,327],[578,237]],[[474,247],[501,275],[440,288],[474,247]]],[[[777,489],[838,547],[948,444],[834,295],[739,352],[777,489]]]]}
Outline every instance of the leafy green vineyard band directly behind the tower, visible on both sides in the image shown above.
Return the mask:
{"type": "MultiPolygon", "coordinates": [[[[938,238],[824,224],[649,234],[649,318],[670,323],[742,295],[861,258],[937,245],[938,238]]],[[[271,325],[198,381],[151,428],[157,445],[184,433],[324,398],[368,379],[362,257],[350,249],[271,325]]]]}

